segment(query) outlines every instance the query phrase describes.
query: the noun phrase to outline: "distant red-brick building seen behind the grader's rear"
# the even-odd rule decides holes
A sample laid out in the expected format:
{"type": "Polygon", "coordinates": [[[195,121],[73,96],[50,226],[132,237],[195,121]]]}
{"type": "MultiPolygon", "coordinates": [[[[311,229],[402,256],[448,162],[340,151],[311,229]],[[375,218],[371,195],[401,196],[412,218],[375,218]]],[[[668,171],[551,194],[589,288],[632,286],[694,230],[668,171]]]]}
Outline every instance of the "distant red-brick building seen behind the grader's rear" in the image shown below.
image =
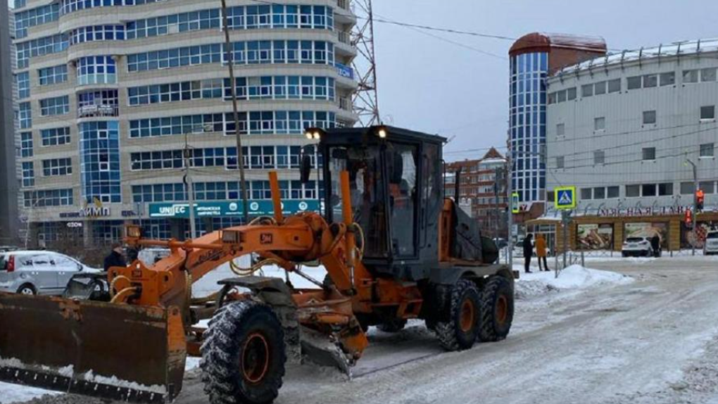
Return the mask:
{"type": "Polygon", "coordinates": [[[470,207],[471,216],[479,223],[483,234],[506,237],[506,210],[508,207],[507,161],[496,149],[490,149],[482,159],[447,163],[444,192],[456,197],[456,173],[460,174],[462,206],[470,207]]]}

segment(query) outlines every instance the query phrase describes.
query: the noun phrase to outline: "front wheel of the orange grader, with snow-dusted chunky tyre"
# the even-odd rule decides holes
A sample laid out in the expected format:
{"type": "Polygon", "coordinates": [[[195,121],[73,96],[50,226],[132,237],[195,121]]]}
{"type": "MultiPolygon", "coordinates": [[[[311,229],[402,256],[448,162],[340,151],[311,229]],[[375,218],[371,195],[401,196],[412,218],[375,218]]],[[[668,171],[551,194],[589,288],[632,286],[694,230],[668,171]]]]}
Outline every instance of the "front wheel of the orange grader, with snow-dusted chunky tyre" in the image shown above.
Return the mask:
{"type": "Polygon", "coordinates": [[[284,329],[266,304],[223,306],[210,321],[201,351],[202,382],[211,404],[269,404],[279,395],[284,329]]]}

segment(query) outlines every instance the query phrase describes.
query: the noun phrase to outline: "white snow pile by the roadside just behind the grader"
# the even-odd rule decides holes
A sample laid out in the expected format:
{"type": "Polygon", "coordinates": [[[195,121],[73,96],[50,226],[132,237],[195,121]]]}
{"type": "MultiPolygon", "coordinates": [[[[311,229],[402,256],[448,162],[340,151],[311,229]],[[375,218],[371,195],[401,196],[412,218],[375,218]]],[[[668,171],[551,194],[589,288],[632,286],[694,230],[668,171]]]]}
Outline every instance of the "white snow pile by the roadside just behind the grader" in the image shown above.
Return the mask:
{"type": "Polygon", "coordinates": [[[559,278],[556,278],[554,271],[534,273],[523,273],[522,271],[521,278],[516,282],[516,298],[525,299],[544,294],[547,291],[582,290],[630,282],[633,282],[633,278],[630,276],[584,268],[579,265],[569,266],[564,269],[559,274],[559,278]]]}

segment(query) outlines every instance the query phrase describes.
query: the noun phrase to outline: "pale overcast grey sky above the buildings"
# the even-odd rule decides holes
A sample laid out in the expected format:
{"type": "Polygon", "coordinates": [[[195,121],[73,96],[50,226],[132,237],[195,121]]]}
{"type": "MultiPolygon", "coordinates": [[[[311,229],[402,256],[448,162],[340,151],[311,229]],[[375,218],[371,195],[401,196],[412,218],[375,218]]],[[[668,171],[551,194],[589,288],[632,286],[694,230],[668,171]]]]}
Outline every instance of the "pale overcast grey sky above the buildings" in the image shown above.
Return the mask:
{"type": "MultiPolygon", "coordinates": [[[[378,18],[397,22],[513,38],[535,31],[599,35],[612,50],[718,37],[718,1],[714,0],[374,0],[373,4],[378,18]]],[[[453,138],[446,147],[447,160],[479,158],[484,151],[470,150],[505,146],[511,41],[430,32],[465,45],[461,47],[389,24],[377,23],[375,30],[384,121],[453,138]]]]}

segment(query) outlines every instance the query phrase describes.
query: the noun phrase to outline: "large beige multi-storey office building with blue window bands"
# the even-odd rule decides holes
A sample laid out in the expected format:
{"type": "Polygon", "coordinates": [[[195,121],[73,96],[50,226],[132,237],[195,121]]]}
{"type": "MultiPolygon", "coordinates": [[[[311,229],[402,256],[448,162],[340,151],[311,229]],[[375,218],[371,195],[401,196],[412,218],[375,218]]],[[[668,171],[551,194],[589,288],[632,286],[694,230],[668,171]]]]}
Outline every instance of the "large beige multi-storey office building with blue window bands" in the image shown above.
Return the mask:
{"type": "Polygon", "coordinates": [[[236,131],[251,215],[271,209],[269,170],[286,210],[319,208],[319,182],[299,182],[299,153],[304,128],[357,119],[350,1],[228,1],[238,127],[219,1],[16,0],[14,15],[33,239],[116,240],[126,222],[184,238],[185,171],[197,227],[238,224],[236,131]]]}

